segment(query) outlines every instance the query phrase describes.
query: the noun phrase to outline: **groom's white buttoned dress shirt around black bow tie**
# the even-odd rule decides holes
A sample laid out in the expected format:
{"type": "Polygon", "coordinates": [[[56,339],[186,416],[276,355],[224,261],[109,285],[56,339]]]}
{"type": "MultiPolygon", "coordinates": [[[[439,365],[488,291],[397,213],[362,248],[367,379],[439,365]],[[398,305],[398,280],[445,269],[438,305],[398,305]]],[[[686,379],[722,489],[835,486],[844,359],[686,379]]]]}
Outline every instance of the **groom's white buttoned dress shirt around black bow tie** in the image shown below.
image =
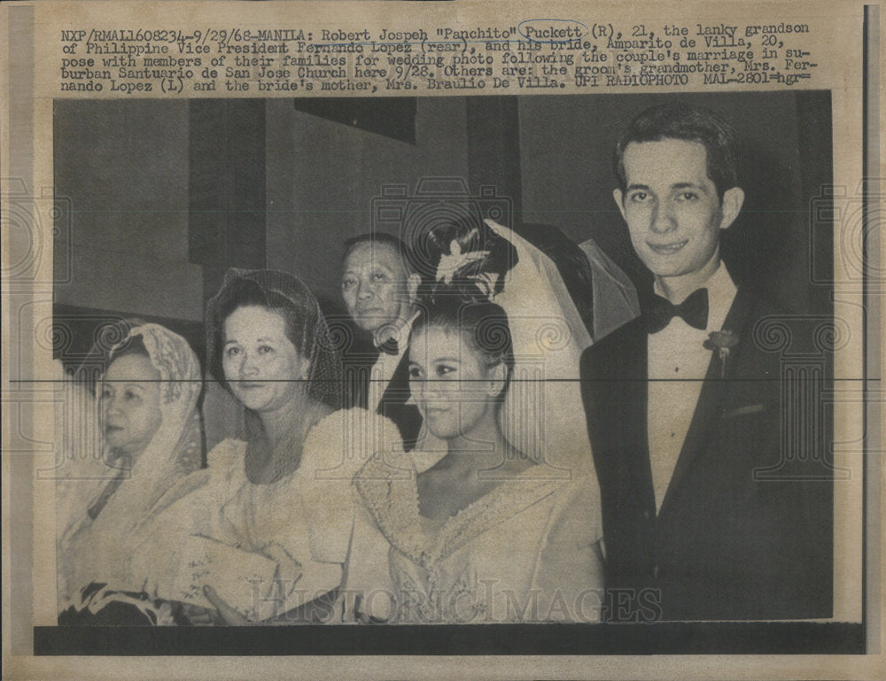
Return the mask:
{"type": "MultiPolygon", "coordinates": [[[[708,290],[706,329],[695,329],[675,316],[664,329],[649,334],[649,460],[658,509],[711,362],[711,350],[704,342],[712,331],[722,329],[735,298],[735,284],[722,263],[703,288],[708,290]]],[[[656,293],[664,297],[657,282],[656,293]]]]}

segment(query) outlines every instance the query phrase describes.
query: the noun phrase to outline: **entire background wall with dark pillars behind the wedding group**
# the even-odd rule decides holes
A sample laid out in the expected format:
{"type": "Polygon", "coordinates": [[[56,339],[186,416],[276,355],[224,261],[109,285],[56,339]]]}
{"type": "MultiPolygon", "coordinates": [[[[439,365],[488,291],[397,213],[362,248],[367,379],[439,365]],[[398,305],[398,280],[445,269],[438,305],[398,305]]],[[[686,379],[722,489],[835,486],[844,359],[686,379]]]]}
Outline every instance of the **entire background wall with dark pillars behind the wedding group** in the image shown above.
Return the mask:
{"type": "MultiPolygon", "coordinates": [[[[73,277],[58,282],[55,302],[57,320],[74,334],[57,354],[73,363],[97,320],[127,316],[166,323],[202,354],[203,306],[228,267],[291,272],[339,311],[342,242],[377,222],[372,209],[383,192],[404,187],[398,200],[408,205],[431,177],[472,196],[494,187],[517,228],[542,223],[577,242],[594,237],[647,286],[612,201],[610,154],[626,120],[669,99],[710,106],[742,138],[747,199],[724,244],[735,278],[763,279],[800,311],[826,307],[828,290],[809,285],[808,206],[831,177],[827,92],[424,97],[338,107],[59,100],[55,191],[69,199],[71,230],[55,252],[59,263],[70,259],[73,277]]],[[[393,219],[385,228],[404,225],[393,219]]],[[[831,247],[820,235],[816,245],[820,267],[831,247]]]]}

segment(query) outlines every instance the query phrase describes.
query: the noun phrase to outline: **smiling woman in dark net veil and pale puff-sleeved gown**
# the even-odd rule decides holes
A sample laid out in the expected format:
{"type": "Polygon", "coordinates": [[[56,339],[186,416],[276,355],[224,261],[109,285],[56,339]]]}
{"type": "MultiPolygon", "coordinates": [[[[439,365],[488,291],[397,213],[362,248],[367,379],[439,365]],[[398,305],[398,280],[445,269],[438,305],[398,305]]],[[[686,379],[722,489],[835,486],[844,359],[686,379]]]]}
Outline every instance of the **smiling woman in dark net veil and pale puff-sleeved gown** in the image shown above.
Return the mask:
{"type": "Polygon", "coordinates": [[[198,489],[160,519],[159,536],[176,547],[162,560],[179,566],[164,588],[228,623],[299,621],[299,608],[330,601],[340,584],[351,478],[396,429],[338,410],[338,352],[297,278],[229,270],[206,334],[210,374],[242,410],[245,438],[215,445],[198,489]]]}

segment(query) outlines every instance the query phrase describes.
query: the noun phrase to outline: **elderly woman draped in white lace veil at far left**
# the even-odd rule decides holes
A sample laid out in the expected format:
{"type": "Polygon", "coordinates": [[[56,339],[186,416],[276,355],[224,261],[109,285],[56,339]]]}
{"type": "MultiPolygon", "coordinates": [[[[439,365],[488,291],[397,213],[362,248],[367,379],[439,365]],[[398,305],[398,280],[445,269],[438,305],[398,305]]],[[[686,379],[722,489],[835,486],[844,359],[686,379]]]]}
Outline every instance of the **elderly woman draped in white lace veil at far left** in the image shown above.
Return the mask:
{"type": "Polygon", "coordinates": [[[172,609],[143,592],[151,576],[133,552],[145,523],[173,499],[170,489],[201,466],[200,369],[188,343],[157,324],[130,321],[110,332],[122,339],[97,344],[66,383],[68,422],[85,428],[61,438],[60,622],[107,623],[116,611],[123,622],[162,623],[172,609]]]}

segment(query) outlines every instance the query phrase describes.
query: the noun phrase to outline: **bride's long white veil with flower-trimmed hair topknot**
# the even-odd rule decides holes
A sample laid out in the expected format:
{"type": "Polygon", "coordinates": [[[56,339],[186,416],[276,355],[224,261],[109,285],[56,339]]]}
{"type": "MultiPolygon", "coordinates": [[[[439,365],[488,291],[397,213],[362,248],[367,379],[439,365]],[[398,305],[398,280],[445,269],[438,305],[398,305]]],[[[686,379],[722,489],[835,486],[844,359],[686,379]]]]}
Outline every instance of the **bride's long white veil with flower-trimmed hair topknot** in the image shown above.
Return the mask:
{"type": "Polygon", "coordinates": [[[577,379],[591,337],[554,261],[478,216],[432,227],[414,249],[425,298],[439,285],[479,290],[508,314],[514,381],[499,419],[509,443],[563,476],[589,460],[577,379]]]}

